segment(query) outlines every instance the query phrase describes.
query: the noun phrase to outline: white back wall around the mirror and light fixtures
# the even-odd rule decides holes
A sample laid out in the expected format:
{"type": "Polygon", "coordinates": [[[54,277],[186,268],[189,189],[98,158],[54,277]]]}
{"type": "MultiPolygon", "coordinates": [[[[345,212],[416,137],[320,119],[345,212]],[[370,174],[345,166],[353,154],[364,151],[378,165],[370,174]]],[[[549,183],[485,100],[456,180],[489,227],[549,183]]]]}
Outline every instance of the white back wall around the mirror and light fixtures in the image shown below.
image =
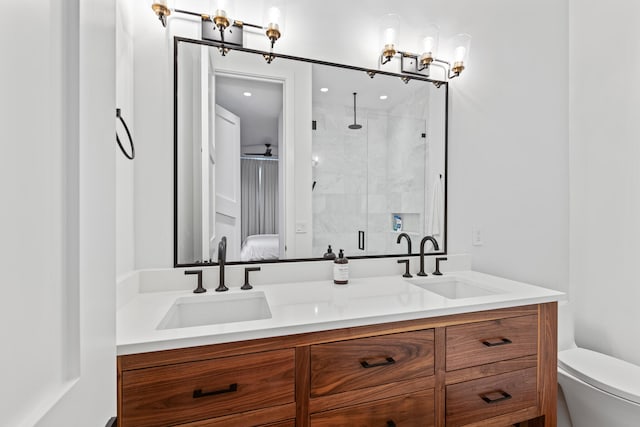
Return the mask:
{"type": "MultiPolygon", "coordinates": [[[[202,4],[181,1],[180,7],[202,4]]],[[[567,0],[289,2],[276,50],[377,66],[378,21],[404,17],[401,46],[415,49],[424,22],[442,39],[468,32],[468,69],[451,84],[449,252],[470,252],[479,271],[568,288],[567,0]],[[541,27],[541,24],[542,27],[541,27]],[[331,31],[327,31],[328,25],[331,31]],[[471,246],[481,229],[484,246],[471,246]]],[[[261,2],[236,4],[260,22],[261,2]]],[[[169,267],[173,251],[172,56],[170,33],[197,36],[196,21],[162,29],[145,2],[134,6],[136,267],[169,267]],[[195,30],[194,30],[195,28],[195,30]],[[151,171],[151,173],[148,173],[151,171]]],[[[267,49],[266,37],[248,46],[267,49]]]]}

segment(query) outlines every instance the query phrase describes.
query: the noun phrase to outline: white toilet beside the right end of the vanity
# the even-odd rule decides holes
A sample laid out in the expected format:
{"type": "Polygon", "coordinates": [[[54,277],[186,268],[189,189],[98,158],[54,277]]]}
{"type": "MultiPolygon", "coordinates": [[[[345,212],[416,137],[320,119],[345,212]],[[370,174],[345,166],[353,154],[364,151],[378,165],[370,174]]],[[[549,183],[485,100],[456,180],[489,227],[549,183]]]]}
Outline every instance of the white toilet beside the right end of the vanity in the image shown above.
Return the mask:
{"type": "Polygon", "coordinates": [[[571,306],[564,302],[558,307],[558,383],[559,427],[640,426],[640,366],[577,347],[571,306]]]}

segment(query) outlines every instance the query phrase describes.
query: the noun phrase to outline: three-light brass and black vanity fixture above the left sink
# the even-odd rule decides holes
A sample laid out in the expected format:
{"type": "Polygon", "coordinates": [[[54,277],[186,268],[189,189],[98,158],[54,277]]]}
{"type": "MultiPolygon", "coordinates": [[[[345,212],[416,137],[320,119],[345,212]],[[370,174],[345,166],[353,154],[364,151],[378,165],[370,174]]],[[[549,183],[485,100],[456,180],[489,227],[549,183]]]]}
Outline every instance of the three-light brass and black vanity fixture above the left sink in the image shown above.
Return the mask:
{"type": "Polygon", "coordinates": [[[167,17],[173,14],[200,17],[202,21],[202,39],[216,42],[220,53],[224,56],[230,47],[243,46],[243,32],[245,28],[261,30],[271,44],[269,54],[264,58],[268,63],[275,59],[273,47],[282,37],[285,8],[284,0],[266,0],[263,13],[265,25],[256,25],[235,19],[235,0],[211,0],[209,12],[198,13],[176,9],[170,6],[171,0],[152,0],[151,9],[158,16],[163,27],[167,26],[167,17]]]}

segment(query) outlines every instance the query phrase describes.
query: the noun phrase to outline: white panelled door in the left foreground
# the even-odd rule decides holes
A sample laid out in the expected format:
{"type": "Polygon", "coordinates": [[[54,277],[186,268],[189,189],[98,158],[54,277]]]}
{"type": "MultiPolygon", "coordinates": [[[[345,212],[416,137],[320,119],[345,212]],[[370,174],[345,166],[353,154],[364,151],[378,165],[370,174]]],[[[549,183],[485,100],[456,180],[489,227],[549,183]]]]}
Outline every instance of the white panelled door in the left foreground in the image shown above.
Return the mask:
{"type": "Polygon", "coordinates": [[[115,4],[14,3],[0,34],[0,424],[104,425],[116,412],[115,4]]]}

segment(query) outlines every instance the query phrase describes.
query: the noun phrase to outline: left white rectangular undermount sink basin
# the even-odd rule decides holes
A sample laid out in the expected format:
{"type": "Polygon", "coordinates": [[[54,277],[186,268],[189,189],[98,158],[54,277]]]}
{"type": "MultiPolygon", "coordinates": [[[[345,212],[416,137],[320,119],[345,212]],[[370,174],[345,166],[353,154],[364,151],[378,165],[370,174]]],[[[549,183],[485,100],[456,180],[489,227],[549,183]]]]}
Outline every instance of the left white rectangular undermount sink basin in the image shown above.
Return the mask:
{"type": "Polygon", "coordinates": [[[264,292],[197,295],[176,299],[158,325],[158,329],[218,325],[270,318],[271,310],[264,292]]]}

